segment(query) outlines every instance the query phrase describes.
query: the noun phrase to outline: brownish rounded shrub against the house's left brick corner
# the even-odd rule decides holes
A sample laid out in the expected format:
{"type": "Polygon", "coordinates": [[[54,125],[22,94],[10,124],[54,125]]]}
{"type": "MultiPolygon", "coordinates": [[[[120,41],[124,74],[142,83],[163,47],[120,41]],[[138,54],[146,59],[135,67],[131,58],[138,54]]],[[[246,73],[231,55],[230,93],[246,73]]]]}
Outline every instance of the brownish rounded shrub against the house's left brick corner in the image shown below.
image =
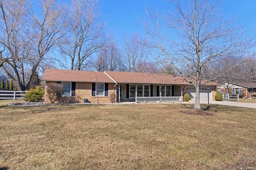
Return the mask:
{"type": "Polygon", "coordinates": [[[60,83],[46,84],[46,94],[50,103],[54,103],[62,98],[63,86],[60,83]]]}

